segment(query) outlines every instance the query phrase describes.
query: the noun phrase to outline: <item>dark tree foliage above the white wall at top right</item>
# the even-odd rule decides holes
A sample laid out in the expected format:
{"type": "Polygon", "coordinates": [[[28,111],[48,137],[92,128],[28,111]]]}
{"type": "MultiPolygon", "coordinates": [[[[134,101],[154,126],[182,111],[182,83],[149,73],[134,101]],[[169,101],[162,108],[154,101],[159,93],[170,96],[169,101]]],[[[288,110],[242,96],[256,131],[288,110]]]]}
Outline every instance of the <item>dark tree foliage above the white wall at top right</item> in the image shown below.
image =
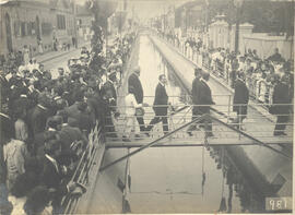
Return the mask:
{"type": "MultiPolygon", "coordinates": [[[[209,0],[209,21],[212,23],[217,14],[224,13],[225,21],[236,23],[234,0],[209,0]]],[[[253,32],[287,33],[294,32],[294,3],[270,0],[244,0],[240,9],[240,23],[253,24],[253,32]]]]}

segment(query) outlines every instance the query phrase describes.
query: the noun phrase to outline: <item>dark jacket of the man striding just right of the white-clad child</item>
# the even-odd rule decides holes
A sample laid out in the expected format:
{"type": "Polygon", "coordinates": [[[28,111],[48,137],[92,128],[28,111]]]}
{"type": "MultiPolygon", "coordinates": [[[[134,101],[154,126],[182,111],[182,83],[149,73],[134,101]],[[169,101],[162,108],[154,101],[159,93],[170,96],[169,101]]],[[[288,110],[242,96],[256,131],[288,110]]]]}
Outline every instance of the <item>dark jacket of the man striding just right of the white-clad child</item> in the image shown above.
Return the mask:
{"type": "Polygon", "coordinates": [[[161,83],[158,83],[156,86],[153,109],[154,109],[155,114],[158,116],[166,116],[167,115],[168,95],[166,93],[165,86],[163,86],[161,83]],[[163,107],[155,107],[155,106],[163,106],[163,107]]]}

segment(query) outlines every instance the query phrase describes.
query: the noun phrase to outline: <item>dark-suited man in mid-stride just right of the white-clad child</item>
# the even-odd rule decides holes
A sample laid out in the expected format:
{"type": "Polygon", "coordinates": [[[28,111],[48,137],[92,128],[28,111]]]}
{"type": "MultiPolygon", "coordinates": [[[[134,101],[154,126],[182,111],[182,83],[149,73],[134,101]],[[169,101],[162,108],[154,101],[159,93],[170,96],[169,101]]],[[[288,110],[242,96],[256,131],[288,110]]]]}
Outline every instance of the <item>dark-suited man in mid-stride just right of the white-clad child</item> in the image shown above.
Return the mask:
{"type": "Polygon", "coordinates": [[[150,132],[154,124],[162,121],[164,134],[168,133],[168,95],[166,93],[165,84],[167,83],[165,74],[158,76],[160,83],[156,86],[155,99],[153,109],[155,111],[155,117],[150,122],[146,128],[146,132],[150,132]]]}

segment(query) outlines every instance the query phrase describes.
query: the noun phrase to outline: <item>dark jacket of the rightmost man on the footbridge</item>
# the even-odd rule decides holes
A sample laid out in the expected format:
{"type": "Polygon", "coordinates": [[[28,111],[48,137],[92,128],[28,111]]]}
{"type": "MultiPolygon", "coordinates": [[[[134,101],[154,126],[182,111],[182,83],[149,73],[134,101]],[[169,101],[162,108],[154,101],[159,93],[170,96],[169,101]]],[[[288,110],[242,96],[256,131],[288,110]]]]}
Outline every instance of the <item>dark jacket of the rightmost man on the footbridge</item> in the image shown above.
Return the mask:
{"type": "Polygon", "coordinates": [[[279,83],[274,86],[272,101],[274,115],[287,115],[290,106],[275,106],[275,104],[291,104],[290,88],[286,84],[279,83]]]}

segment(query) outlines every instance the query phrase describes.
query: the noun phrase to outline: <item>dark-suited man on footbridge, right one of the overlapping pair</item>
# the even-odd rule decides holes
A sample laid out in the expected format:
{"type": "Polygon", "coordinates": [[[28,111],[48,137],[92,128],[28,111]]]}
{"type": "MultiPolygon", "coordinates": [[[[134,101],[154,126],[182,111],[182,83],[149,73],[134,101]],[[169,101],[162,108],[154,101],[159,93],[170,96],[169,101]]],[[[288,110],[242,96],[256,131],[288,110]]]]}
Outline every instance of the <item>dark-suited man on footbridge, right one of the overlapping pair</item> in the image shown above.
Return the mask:
{"type": "MultiPolygon", "coordinates": [[[[202,72],[202,77],[200,79],[201,87],[200,87],[200,105],[201,107],[198,108],[200,115],[210,115],[210,106],[214,105],[215,103],[212,99],[211,88],[206,84],[209,81],[210,74],[206,72],[202,72]]],[[[210,119],[204,119],[200,121],[201,126],[205,129],[206,136],[213,136],[212,133],[212,121],[210,119]]]]}

